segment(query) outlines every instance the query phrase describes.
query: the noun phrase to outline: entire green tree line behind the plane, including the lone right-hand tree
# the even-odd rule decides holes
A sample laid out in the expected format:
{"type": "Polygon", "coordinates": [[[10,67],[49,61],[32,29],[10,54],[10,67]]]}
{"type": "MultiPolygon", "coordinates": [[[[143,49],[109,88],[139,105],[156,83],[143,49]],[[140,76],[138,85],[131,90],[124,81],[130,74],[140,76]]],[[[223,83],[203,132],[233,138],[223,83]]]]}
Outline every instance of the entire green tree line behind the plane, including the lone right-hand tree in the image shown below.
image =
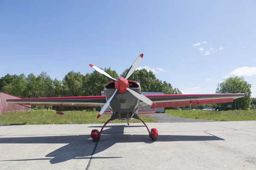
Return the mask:
{"type": "MultiPolygon", "coordinates": [[[[111,77],[125,77],[128,69],[118,75],[111,68],[102,69],[111,77]]],[[[141,85],[141,91],[164,92],[164,94],[182,94],[178,88],[172,87],[171,83],[157,79],[152,71],[146,69],[135,70],[128,80],[137,81],[141,85]]],[[[35,76],[31,73],[10,75],[6,74],[0,78],[0,91],[12,94],[21,98],[38,97],[63,97],[63,96],[98,96],[104,90],[105,83],[110,80],[99,74],[97,71],[85,75],[80,72],[70,71],[62,80],[52,79],[47,72],[41,72],[35,76]]],[[[256,105],[256,99],[251,98],[251,85],[243,77],[229,77],[218,83],[216,93],[245,93],[246,96],[239,100],[234,100],[236,109],[250,109],[256,105]]],[[[190,108],[215,108],[219,104],[190,106],[190,108]]],[[[175,108],[188,108],[175,107],[175,108]]]]}

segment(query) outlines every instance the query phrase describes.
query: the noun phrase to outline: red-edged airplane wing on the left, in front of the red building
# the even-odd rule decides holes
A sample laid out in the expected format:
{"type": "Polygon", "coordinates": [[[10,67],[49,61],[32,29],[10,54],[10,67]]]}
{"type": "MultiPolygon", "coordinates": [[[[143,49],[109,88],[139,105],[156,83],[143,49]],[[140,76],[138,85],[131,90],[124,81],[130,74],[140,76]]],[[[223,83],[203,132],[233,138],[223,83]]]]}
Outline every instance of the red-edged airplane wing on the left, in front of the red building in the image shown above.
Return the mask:
{"type": "Polygon", "coordinates": [[[49,106],[104,106],[105,96],[78,96],[78,97],[49,97],[31,99],[8,99],[6,102],[19,105],[49,105],[49,106]]]}

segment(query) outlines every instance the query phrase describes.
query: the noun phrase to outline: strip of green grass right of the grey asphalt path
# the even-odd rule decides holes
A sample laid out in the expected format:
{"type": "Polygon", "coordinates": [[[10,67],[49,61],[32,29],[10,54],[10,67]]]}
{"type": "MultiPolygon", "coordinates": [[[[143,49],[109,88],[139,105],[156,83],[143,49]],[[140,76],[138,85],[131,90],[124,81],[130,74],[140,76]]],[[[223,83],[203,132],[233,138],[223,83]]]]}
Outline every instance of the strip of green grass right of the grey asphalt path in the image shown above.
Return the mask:
{"type": "Polygon", "coordinates": [[[256,110],[249,111],[180,111],[166,110],[167,116],[217,121],[256,120],[256,110]]]}

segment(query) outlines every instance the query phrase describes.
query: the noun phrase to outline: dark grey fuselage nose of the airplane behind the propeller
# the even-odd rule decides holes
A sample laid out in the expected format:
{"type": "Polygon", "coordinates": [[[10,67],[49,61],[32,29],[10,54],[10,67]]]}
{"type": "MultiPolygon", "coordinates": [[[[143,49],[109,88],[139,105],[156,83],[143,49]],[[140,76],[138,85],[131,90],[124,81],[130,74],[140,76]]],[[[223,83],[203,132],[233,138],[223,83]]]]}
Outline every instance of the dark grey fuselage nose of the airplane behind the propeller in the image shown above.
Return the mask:
{"type": "MultiPolygon", "coordinates": [[[[140,93],[140,84],[138,82],[128,80],[128,84],[128,87],[140,93]]],[[[104,93],[106,101],[108,101],[108,99],[114,94],[115,90],[115,82],[108,82],[105,84],[104,93]]],[[[114,96],[111,104],[109,105],[109,109],[112,113],[111,120],[139,119],[138,111],[140,100],[132,95],[129,91],[122,91],[122,93],[117,91],[116,93],[117,94],[114,96]]]]}

